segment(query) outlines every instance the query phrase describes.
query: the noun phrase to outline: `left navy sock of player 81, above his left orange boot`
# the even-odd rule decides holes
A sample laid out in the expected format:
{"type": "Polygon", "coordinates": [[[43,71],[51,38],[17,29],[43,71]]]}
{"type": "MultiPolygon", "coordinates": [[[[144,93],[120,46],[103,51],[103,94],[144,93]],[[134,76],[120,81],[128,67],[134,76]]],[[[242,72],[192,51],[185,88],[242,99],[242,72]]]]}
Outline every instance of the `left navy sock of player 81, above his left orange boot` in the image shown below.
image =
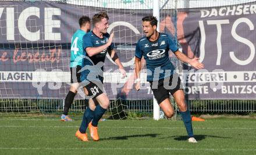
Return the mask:
{"type": "Polygon", "coordinates": [[[88,124],[90,123],[90,121],[93,119],[93,113],[94,111],[90,109],[90,107],[86,108],[86,111],[84,111],[84,116],[83,116],[83,120],[81,122],[79,131],[82,134],[86,133],[86,129],[88,127],[88,124]]]}

